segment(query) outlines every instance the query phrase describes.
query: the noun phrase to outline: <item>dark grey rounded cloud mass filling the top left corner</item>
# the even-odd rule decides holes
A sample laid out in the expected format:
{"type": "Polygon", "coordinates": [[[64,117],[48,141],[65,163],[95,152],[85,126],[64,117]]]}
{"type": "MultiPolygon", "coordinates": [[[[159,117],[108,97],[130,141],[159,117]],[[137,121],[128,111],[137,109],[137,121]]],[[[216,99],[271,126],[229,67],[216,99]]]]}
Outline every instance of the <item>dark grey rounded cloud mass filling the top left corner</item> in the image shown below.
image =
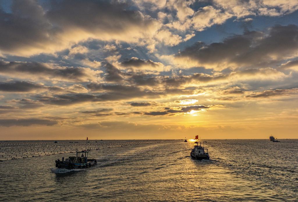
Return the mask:
{"type": "Polygon", "coordinates": [[[0,30],[0,49],[4,51],[42,46],[56,32],[38,2],[29,0],[12,1],[11,13],[0,7],[0,30]]]}

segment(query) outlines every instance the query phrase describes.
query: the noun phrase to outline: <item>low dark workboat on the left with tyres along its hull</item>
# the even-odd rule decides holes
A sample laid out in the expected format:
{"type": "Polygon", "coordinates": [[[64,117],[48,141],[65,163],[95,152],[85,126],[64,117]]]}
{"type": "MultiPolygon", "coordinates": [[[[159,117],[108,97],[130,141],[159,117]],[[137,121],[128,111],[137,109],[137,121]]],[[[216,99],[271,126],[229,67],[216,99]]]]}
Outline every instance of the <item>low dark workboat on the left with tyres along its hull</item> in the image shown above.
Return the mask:
{"type": "Polygon", "coordinates": [[[69,156],[68,159],[62,157],[55,160],[57,168],[66,168],[66,169],[84,169],[90,168],[97,164],[96,159],[88,159],[88,151],[77,151],[77,156],[69,156]]]}

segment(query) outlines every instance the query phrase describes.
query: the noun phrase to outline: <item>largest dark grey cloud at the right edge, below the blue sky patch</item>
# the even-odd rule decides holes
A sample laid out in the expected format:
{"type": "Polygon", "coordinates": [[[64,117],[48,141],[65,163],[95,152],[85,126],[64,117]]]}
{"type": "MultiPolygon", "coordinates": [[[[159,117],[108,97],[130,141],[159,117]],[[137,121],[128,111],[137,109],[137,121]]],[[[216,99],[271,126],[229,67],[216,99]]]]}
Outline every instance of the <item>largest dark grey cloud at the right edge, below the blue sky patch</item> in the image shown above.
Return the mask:
{"type": "Polygon", "coordinates": [[[243,35],[226,38],[220,43],[196,42],[179,52],[176,58],[188,57],[203,65],[216,64],[219,69],[225,69],[233,63],[263,67],[295,55],[298,49],[297,37],[296,25],[276,25],[268,30],[268,34],[246,31],[243,35]]]}

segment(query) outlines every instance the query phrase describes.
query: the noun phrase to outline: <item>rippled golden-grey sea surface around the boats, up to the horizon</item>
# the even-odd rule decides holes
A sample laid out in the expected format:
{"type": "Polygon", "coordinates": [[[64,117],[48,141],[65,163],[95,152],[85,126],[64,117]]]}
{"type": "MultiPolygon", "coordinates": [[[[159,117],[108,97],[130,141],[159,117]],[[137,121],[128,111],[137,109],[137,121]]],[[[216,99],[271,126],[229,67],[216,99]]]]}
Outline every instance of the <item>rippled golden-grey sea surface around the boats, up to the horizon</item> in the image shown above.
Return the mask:
{"type": "Polygon", "coordinates": [[[97,165],[72,171],[55,159],[75,143],[2,141],[1,158],[20,158],[3,155],[0,201],[298,201],[298,140],[280,141],[207,140],[206,161],[183,140],[90,141],[97,165]]]}

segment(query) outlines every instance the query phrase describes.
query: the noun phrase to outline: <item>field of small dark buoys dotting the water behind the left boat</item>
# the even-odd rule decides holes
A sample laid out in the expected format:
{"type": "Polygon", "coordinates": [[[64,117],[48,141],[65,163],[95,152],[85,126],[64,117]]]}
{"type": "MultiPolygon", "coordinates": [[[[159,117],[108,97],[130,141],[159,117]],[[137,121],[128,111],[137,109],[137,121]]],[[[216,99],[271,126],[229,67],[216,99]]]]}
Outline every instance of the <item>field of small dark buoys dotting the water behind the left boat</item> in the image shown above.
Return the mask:
{"type": "MultiPolygon", "coordinates": [[[[85,140],[56,141],[37,140],[37,141],[0,141],[0,161],[11,159],[24,159],[37,156],[49,156],[62,153],[73,153],[78,150],[86,149],[85,140]]],[[[150,144],[164,142],[164,140],[105,140],[87,142],[88,150],[98,150],[110,147],[123,147],[137,144],[150,144]]]]}

